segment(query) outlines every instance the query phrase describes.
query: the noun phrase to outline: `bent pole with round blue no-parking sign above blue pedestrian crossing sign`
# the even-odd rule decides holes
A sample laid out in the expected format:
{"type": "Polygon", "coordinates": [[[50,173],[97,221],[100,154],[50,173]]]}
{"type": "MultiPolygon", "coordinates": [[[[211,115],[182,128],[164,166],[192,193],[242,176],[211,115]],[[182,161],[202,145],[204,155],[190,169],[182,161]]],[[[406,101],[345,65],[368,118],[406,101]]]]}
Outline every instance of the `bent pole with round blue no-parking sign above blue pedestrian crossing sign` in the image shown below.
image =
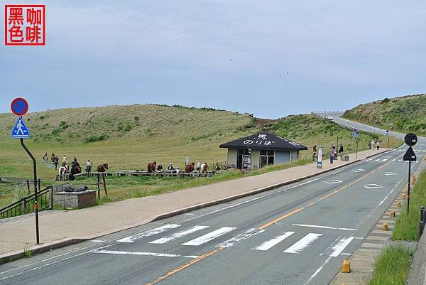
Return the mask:
{"type": "Polygon", "coordinates": [[[35,240],[37,244],[40,244],[40,235],[38,232],[38,191],[37,191],[37,163],[31,151],[23,143],[23,139],[28,139],[30,137],[30,130],[26,127],[26,124],[23,122],[22,116],[28,112],[28,102],[23,98],[16,98],[11,103],[11,110],[13,114],[18,116],[15,127],[12,129],[12,139],[19,139],[21,141],[21,146],[25,149],[26,153],[33,160],[33,170],[34,170],[34,210],[35,210],[35,240]]]}

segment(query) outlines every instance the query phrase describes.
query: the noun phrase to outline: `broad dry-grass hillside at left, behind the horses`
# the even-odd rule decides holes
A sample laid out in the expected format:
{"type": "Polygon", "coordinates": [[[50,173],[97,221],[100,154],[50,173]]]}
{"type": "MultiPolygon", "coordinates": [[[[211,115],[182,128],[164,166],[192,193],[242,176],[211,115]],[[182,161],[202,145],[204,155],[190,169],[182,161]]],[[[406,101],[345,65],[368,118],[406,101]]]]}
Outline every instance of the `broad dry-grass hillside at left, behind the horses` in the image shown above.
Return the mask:
{"type": "MultiPolygon", "coordinates": [[[[62,142],[152,136],[196,141],[255,126],[249,114],[155,104],[55,109],[26,114],[24,120],[35,141],[62,142]]],[[[15,122],[13,114],[0,114],[1,129],[11,130],[15,122]]],[[[0,139],[9,136],[1,132],[0,139]]]]}

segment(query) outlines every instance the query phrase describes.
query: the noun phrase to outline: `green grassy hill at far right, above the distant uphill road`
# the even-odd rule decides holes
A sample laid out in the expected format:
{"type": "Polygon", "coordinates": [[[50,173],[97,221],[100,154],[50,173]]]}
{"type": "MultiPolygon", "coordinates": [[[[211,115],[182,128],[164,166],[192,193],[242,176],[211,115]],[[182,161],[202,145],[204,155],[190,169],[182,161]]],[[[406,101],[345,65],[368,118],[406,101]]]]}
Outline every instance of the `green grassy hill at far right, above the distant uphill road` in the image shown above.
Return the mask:
{"type": "Polygon", "coordinates": [[[344,118],[402,133],[426,136],[426,95],[385,98],[350,109],[344,118]]]}

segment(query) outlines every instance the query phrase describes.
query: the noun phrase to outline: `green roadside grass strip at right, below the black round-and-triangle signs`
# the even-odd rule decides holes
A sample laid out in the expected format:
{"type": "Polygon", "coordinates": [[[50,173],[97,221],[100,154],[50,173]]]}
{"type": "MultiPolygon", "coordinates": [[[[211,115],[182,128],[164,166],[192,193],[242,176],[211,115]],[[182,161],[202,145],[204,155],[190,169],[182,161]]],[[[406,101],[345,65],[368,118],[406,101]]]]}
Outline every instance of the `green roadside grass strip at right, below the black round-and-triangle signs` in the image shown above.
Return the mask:
{"type": "Polygon", "coordinates": [[[421,206],[426,207],[426,171],[417,177],[414,188],[410,190],[410,213],[407,215],[407,205],[404,204],[396,219],[393,240],[417,240],[421,206]]]}

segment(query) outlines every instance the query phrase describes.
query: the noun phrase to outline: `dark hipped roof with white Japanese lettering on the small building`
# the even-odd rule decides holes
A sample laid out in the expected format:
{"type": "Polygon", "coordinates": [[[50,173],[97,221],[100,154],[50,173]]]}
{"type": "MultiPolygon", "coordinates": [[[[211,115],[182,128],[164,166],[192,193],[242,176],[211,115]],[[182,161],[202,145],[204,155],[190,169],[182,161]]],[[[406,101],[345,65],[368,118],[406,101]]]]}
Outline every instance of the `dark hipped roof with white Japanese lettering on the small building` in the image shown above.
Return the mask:
{"type": "Polygon", "coordinates": [[[267,131],[229,141],[219,147],[225,149],[266,149],[271,151],[302,151],[307,149],[306,146],[267,131]]]}

